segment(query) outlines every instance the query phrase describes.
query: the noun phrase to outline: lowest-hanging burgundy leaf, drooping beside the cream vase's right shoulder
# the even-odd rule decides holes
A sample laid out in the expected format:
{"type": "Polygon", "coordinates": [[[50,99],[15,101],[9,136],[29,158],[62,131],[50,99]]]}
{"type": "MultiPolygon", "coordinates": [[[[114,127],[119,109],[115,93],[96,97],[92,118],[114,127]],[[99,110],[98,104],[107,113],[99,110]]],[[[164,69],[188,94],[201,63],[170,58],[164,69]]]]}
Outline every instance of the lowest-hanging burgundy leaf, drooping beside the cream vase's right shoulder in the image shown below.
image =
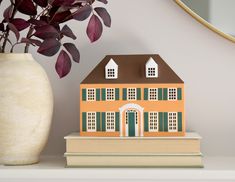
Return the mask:
{"type": "Polygon", "coordinates": [[[63,78],[70,72],[71,66],[72,62],[67,52],[65,52],[64,50],[60,51],[55,65],[56,72],[58,73],[60,78],[63,78]]]}

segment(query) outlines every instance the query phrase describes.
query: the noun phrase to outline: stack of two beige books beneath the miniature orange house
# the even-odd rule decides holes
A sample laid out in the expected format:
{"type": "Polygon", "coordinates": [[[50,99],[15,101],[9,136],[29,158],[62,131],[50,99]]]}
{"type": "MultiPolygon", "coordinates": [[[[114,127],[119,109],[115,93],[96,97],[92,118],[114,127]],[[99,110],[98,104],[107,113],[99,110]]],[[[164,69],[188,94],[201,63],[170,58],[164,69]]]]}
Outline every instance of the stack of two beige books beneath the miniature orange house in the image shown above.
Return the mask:
{"type": "Polygon", "coordinates": [[[201,137],[65,137],[68,167],[203,167],[201,137]]]}

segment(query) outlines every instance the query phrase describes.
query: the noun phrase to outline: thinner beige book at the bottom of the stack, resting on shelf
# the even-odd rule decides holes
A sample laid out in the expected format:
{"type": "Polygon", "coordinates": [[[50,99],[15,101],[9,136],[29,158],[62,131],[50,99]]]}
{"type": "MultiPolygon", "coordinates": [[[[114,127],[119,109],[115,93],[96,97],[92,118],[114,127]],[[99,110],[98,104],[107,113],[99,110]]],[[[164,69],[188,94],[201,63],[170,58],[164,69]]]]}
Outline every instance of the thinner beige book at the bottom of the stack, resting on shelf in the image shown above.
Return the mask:
{"type": "Polygon", "coordinates": [[[66,153],[67,167],[203,167],[201,154],[72,154],[66,153]]]}

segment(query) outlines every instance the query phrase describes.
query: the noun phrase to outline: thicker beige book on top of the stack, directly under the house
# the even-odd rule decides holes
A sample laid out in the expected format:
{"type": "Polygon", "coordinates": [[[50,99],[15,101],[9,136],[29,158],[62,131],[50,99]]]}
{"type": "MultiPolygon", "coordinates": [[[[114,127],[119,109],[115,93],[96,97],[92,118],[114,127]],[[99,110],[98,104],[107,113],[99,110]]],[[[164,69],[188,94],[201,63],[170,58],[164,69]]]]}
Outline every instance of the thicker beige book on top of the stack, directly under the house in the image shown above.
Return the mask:
{"type": "Polygon", "coordinates": [[[201,137],[188,132],[183,137],[65,137],[68,153],[200,153],[201,137]]]}

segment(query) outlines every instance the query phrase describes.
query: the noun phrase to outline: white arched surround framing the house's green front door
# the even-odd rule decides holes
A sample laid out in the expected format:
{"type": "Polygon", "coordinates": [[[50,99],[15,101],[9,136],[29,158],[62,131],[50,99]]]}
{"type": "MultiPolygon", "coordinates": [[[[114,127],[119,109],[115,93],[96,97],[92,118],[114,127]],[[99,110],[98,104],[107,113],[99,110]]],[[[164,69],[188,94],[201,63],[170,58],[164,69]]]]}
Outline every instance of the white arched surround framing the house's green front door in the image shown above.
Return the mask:
{"type": "Polygon", "coordinates": [[[137,111],[139,111],[140,113],[140,116],[139,116],[139,122],[140,122],[140,136],[144,136],[144,121],[143,121],[143,111],[144,111],[144,108],[141,107],[140,105],[138,104],[133,104],[133,103],[130,103],[130,104],[125,104],[123,105],[122,107],[119,108],[119,111],[120,111],[120,136],[124,136],[124,131],[123,131],[123,114],[124,111],[128,110],[128,109],[135,109],[137,111]]]}

